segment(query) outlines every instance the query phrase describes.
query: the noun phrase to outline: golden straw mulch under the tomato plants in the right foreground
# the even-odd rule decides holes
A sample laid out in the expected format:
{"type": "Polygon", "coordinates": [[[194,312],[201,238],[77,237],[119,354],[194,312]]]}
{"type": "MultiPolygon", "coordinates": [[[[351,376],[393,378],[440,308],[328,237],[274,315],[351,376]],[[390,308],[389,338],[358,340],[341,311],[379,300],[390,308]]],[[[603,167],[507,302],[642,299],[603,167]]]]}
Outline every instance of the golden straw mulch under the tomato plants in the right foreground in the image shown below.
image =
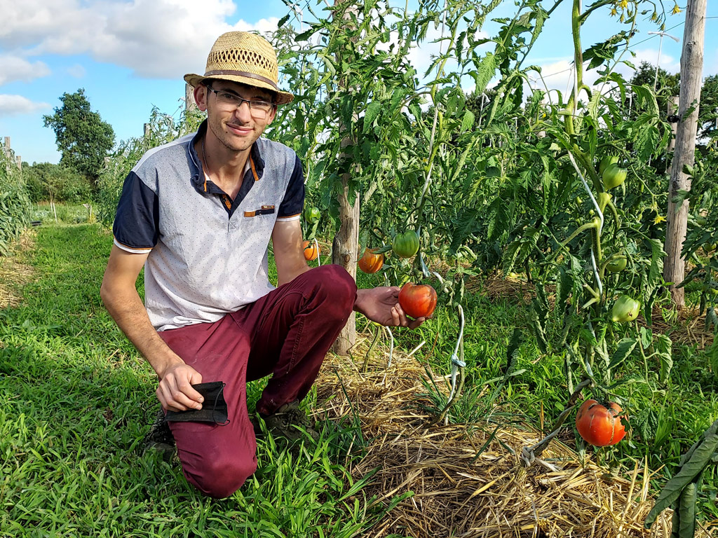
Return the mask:
{"type": "MultiPolygon", "coordinates": [[[[647,468],[637,465],[628,478],[611,477],[590,459],[582,464],[556,440],[533,466],[523,468],[517,454],[539,440],[528,425],[501,428],[481,452],[495,424],[429,425],[432,417],[421,410],[429,405],[421,384],[424,367],[395,352],[385,379],[383,350],[363,374],[359,367],[367,347],[361,339],[354,362],[327,357],[316,383],[315,410],[317,417],[358,419],[368,445],[350,472],[359,479],[380,468],[364,490],[369,498],[386,503],[413,492],[365,537],[670,536],[670,511],[651,531],[643,529],[653,505],[647,468]]],[[[434,375],[438,387],[446,387],[446,379],[434,375]]]]}

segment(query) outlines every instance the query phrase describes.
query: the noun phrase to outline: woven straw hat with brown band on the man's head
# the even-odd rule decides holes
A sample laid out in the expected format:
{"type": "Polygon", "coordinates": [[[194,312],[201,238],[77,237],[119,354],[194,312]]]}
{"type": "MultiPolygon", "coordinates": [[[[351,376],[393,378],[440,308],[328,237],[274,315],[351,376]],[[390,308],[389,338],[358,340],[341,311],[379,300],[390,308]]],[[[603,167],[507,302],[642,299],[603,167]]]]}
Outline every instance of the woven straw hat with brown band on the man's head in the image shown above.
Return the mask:
{"type": "Polygon", "coordinates": [[[227,32],[212,45],[205,75],[188,73],[185,80],[197,87],[208,78],[241,82],[276,93],[276,104],[294,100],[294,95],[279,90],[274,47],[257,34],[227,32]]]}

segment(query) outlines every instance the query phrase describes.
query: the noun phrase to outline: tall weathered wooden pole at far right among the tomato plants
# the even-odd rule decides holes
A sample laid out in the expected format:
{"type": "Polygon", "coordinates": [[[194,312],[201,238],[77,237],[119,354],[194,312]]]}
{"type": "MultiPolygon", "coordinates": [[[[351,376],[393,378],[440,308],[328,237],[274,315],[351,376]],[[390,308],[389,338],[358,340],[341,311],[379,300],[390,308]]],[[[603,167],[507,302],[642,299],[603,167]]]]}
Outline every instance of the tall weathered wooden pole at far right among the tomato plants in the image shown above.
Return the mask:
{"type": "Polygon", "coordinates": [[[698,105],[701,97],[701,73],[703,72],[703,44],[706,28],[707,0],[688,0],[686,28],[683,34],[681,52],[681,94],[679,123],[676,131],[676,151],[671,163],[671,184],[668,187],[668,213],[666,214],[666,262],[663,264],[663,278],[673,282],[669,288],[676,308],[684,308],[684,288],[676,284],[684,279],[686,260],[681,258],[681,249],[686,240],[688,227],[688,200],[676,207],[673,198],[679,190],[691,190],[691,178],[683,173],[684,165],[693,166],[698,128],[698,105]],[[689,109],[691,113],[686,115],[689,109]]]}

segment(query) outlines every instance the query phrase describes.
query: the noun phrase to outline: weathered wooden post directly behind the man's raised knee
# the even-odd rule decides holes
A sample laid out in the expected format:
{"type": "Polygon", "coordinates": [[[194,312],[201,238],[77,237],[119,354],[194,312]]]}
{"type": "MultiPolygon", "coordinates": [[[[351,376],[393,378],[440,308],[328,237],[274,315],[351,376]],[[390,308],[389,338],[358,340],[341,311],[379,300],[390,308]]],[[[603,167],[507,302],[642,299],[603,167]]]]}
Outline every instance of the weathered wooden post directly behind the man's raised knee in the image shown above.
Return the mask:
{"type": "MultiPolygon", "coordinates": [[[[347,0],[335,0],[334,5],[338,6],[347,0]]],[[[358,11],[355,7],[350,7],[344,12],[344,20],[350,20],[350,12],[358,11]]],[[[345,25],[349,23],[346,22],[345,25]]],[[[339,81],[342,88],[347,88],[350,82],[346,79],[339,81]]],[[[345,131],[344,126],[340,126],[340,131],[345,131]]],[[[350,136],[342,138],[341,147],[347,148],[352,146],[354,141],[350,136]]],[[[348,154],[342,153],[342,159],[349,159],[348,154]]],[[[349,199],[349,178],[350,174],[342,174],[343,189],[339,194],[339,220],[340,227],[332,242],[332,263],[341,265],[356,280],[357,276],[357,253],[359,250],[359,193],[355,193],[354,205],[349,199]]],[[[349,349],[355,344],[357,339],[356,315],[351,313],[347,324],[344,326],[337,336],[334,347],[332,348],[336,354],[347,355],[349,349]]]]}

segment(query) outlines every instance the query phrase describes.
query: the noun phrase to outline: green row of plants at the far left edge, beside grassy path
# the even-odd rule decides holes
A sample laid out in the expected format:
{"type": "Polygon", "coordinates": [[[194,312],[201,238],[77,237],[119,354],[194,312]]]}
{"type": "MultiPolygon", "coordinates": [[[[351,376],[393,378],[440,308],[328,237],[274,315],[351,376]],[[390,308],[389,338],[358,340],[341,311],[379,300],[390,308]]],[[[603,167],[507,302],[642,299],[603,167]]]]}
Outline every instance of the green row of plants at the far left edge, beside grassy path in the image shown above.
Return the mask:
{"type": "Polygon", "coordinates": [[[0,255],[29,225],[30,198],[24,178],[15,164],[14,154],[6,156],[0,143],[0,255]]]}

